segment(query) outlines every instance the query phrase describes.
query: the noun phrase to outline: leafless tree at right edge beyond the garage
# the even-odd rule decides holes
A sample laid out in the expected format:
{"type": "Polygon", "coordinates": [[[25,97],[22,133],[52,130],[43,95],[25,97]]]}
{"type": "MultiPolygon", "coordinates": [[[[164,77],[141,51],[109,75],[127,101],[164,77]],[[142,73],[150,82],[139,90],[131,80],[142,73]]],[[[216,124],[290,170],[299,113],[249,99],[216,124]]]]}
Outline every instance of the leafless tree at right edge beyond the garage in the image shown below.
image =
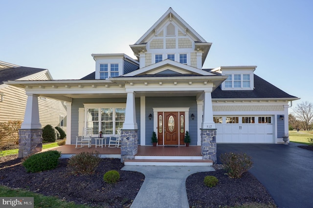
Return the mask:
{"type": "Polygon", "coordinates": [[[313,123],[313,103],[302,102],[294,107],[293,112],[304,130],[309,130],[313,123]]]}

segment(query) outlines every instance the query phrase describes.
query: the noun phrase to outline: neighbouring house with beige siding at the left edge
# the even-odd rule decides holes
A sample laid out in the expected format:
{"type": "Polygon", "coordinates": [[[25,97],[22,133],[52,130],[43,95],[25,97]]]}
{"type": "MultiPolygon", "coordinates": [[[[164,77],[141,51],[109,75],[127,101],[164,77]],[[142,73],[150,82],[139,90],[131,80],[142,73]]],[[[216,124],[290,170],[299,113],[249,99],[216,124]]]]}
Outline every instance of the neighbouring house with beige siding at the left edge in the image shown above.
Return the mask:
{"type": "MultiPolygon", "coordinates": [[[[0,61],[0,123],[24,120],[27,95],[21,87],[5,84],[8,80],[52,80],[47,69],[18,66],[0,61]]],[[[66,130],[67,116],[64,102],[40,96],[39,119],[42,127],[47,124],[66,130]]]]}

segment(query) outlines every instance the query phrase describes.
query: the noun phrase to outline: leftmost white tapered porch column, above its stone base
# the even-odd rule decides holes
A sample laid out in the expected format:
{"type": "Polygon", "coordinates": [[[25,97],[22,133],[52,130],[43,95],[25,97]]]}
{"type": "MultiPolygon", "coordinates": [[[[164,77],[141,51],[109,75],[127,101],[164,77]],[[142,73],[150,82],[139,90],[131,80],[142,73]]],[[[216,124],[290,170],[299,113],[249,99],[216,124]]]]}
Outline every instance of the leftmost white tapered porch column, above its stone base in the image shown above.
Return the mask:
{"type": "Polygon", "coordinates": [[[42,128],[39,120],[38,95],[27,95],[24,121],[21,129],[40,129],[42,128]]]}

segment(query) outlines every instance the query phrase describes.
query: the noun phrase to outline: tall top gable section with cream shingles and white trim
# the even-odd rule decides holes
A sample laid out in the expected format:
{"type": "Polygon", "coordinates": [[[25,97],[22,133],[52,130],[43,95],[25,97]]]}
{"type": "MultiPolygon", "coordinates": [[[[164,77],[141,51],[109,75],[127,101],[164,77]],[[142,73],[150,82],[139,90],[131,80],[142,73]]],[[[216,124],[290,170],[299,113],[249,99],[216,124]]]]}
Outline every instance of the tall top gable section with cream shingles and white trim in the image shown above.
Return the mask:
{"type": "Polygon", "coordinates": [[[201,69],[211,44],[182,20],[172,8],[169,8],[130,47],[134,55],[139,58],[140,68],[171,59],[201,69]]]}

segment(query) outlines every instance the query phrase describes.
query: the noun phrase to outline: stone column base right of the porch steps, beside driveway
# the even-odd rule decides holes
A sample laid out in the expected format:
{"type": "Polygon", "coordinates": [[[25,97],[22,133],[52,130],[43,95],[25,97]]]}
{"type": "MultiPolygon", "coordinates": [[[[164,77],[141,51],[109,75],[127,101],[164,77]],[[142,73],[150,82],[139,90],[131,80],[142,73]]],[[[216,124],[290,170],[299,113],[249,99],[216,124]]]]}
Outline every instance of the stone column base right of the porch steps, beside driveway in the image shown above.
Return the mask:
{"type": "Polygon", "coordinates": [[[201,154],[203,160],[216,164],[216,129],[201,129],[201,154]]]}

